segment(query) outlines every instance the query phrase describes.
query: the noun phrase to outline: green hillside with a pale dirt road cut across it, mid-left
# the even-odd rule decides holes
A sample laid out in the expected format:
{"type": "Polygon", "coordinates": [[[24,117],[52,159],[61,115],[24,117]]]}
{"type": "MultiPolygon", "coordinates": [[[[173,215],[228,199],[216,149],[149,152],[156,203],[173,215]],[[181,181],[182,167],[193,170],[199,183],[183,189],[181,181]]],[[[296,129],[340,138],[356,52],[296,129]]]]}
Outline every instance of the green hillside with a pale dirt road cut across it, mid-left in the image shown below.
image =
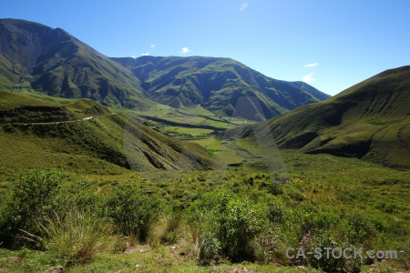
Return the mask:
{"type": "Polygon", "coordinates": [[[0,155],[3,173],[32,167],[110,173],[213,166],[199,145],[164,136],[89,99],[0,91],[0,113],[0,141],[7,143],[0,155]]]}

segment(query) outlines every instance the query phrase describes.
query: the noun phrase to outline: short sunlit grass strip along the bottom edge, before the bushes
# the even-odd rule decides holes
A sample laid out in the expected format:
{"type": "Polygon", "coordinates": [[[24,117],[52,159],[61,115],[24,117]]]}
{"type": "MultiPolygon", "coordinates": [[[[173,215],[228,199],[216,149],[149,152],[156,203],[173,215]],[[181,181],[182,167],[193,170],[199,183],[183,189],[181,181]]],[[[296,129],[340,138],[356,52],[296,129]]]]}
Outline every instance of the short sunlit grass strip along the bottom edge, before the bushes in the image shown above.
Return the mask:
{"type": "MultiPolygon", "coordinates": [[[[253,272],[301,272],[300,268],[283,268],[272,265],[258,265],[252,263],[231,264],[229,261],[222,261],[212,267],[199,266],[190,257],[181,256],[181,248],[173,249],[172,246],[149,248],[149,246],[137,245],[134,251],[128,254],[97,254],[93,263],[65,268],[64,272],[228,272],[235,269],[249,269],[253,272]],[[143,250],[140,252],[140,250],[143,250]]],[[[183,249],[182,249],[183,250],[183,249]]],[[[51,268],[47,260],[48,255],[36,251],[8,251],[0,248],[0,268],[2,272],[41,272],[51,268]],[[18,255],[24,255],[21,260],[18,255]]],[[[304,272],[319,272],[306,268],[304,272]]]]}

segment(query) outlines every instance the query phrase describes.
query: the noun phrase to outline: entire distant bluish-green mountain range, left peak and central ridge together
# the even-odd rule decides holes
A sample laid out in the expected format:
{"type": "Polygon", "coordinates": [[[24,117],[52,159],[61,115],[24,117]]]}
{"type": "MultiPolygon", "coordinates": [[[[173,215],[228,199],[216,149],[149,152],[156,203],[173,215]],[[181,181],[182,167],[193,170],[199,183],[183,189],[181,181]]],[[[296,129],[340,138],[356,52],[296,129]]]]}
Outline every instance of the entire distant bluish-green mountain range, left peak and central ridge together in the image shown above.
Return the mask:
{"type": "Polygon", "coordinates": [[[0,20],[0,88],[91,98],[104,106],[200,105],[261,121],[329,96],[261,75],[229,58],[108,58],[60,28],[0,20]]]}

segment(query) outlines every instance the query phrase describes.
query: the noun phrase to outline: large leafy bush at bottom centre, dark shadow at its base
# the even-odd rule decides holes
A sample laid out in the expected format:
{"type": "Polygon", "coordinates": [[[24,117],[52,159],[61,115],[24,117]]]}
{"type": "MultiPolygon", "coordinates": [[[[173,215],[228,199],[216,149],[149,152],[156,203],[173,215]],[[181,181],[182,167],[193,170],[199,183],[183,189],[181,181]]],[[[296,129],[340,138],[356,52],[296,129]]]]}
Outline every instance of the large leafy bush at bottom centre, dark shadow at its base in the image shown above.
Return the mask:
{"type": "Polygon", "coordinates": [[[188,221],[199,233],[200,258],[210,258],[215,252],[232,260],[252,258],[251,240],[267,225],[265,211],[247,198],[227,193],[210,193],[196,201],[188,221]]]}

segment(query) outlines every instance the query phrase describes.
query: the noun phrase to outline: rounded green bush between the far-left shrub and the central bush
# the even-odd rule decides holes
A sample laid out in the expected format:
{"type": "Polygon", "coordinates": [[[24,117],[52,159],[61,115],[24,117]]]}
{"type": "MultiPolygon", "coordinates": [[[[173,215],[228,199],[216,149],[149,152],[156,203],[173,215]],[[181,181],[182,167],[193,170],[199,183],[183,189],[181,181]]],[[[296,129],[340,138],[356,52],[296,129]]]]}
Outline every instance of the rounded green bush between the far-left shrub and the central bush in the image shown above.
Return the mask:
{"type": "Polygon", "coordinates": [[[106,200],[103,215],[118,234],[146,240],[150,225],[163,209],[164,202],[157,196],[143,195],[135,187],[118,187],[106,200]]]}

